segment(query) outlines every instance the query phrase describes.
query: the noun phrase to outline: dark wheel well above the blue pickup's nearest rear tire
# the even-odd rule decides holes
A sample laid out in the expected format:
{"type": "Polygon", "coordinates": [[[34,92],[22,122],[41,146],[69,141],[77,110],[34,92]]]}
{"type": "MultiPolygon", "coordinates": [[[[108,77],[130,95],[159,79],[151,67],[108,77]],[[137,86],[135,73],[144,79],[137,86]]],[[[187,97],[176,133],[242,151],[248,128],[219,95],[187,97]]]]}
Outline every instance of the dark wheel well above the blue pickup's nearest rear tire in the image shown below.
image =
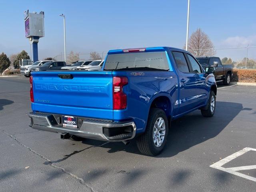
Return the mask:
{"type": "Polygon", "coordinates": [[[153,100],[153,102],[150,105],[150,108],[160,108],[162,109],[167,118],[170,119],[171,117],[171,103],[170,99],[166,96],[159,96],[153,100]]]}

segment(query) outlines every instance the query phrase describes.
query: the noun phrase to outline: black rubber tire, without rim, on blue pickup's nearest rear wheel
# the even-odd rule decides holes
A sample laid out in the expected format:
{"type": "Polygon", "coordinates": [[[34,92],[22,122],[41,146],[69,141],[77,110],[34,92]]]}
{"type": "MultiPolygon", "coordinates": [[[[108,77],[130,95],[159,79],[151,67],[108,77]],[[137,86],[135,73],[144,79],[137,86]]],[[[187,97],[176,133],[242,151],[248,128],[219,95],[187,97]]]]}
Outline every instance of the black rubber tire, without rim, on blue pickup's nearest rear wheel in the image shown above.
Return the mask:
{"type": "MultiPolygon", "coordinates": [[[[160,131],[158,130],[158,132],[160,131]]],[[[148,115],[146,131],[144,132],[143,135],[137,138],[138,150],[142,154],[145,154],[148,156],[156,156],[160,154],[164,149],[167,136],[168,136],[168,119],[166,117],[165,112],[159,108],[152,108],[150,109],[150,112],[148,115]],[[162,118],[165,124],[165,135],[164,135],[162,144],[159,147],[155,146],[154,140],[153,140],[154,124],[156,123],[158,118],[162,118]]]]}

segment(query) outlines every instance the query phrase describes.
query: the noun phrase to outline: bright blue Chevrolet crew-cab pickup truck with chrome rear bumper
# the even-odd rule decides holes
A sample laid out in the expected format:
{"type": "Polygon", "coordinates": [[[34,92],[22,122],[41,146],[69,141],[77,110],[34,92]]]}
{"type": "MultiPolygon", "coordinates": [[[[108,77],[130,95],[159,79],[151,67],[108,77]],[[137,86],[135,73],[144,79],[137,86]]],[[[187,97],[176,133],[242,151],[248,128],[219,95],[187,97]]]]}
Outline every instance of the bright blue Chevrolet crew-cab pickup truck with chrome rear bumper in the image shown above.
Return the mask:
{"type": "Polygon", "coordinates": [[[110,50],[102,71],[42,71],[30,77],[30,127],[62,139],[124,142],[160,154],[171,121],[215,111],[214,68],[170,47],[110,50]]]}

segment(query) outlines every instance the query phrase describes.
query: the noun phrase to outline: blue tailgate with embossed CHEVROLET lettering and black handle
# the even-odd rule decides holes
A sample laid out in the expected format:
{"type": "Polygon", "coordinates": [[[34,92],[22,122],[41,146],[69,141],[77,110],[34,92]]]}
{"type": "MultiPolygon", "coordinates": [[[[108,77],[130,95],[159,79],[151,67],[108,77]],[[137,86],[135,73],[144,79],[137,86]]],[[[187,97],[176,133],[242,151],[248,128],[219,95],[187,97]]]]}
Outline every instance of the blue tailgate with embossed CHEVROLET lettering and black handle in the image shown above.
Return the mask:
{"type": "Polygon", "coordinates": [[[32,76],[33,111],[113,119],[111,71],[46,71],[32,76]]]}

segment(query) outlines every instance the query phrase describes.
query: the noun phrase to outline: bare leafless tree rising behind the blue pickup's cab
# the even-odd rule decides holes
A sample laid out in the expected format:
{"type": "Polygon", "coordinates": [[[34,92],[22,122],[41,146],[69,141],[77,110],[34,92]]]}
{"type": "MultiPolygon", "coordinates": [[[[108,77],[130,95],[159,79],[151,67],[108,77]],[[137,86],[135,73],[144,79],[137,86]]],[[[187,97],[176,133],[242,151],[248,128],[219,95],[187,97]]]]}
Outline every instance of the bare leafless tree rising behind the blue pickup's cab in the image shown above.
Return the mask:
{"type": "Polygon", "coordinates": [[[212,41],[200,28],[191,34],[188,40],[188,51],[196,57],[213,56],[215,54],[212,41]]]}

